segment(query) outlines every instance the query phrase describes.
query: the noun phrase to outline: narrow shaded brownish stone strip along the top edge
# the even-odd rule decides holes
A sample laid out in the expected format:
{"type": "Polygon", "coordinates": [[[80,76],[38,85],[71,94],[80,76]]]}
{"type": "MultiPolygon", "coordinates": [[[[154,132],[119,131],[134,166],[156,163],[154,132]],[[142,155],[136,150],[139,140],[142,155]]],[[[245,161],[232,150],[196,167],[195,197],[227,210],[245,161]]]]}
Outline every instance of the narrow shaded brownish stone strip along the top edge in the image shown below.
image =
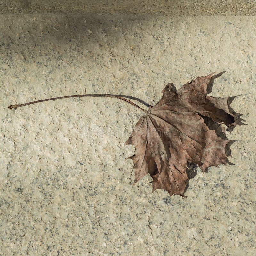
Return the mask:
{"type": "Polygon", "coordinates": [[[0,0],[0,14],[255,15],[255,0],[0,0]]]}

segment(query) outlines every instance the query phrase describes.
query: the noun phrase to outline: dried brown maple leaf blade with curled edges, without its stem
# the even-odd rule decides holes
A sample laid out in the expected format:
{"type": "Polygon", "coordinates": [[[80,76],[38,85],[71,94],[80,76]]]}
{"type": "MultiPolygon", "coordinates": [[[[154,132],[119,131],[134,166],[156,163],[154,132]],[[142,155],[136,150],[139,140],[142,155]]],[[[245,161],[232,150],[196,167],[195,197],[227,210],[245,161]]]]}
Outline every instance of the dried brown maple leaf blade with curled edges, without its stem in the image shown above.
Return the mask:
{"type": "Polygon", "coordinates": [[[187,163],[198,164],[203,172],[209,166],[226,164],[225,147],[230,140],[217,136],[205,120],[211,119],[217,126],[237,124],[228,97],[207,96],[214,73],[197,77],[177,92],[169,83],[162,90],[162,99],[140,118],[125,143],[135,147],[135,155],[129,157],[134,163],[134,184],[149,173],[152,192],[160,188],[170,196],[186,197],[187,163]]]}

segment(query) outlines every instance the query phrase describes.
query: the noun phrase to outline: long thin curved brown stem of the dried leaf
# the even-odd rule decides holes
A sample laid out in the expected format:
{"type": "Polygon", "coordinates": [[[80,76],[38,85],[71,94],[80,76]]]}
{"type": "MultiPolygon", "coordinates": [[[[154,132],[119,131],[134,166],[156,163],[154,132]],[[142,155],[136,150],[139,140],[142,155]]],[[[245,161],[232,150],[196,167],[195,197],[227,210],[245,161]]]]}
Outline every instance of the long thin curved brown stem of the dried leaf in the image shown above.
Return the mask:
{"type": "MultiPolygon", "coordinates": [[[[16,109],[16,108],[27,106],[27,105],[30,105],[30,104],[35,104],[35,103],[49,101],[49,100],[65,99],[65,98],[75,98],[75,97],[111,97],[111,98],[116,98],[116,99],[124,100],[125,102],[128,102],[132,106],[134,106],[136,108],[139,108],[141,111],[143,111],[145,113],[148,113],[148,111],[146,109],[140,108],[138,105],[133,103],[131,100],[127,100],[127,99],[125,99],[122,96],[123,95],[115,95],[115,94],[78,94],[78,95],[69,95],[69,96],[61,96],[61,97],[49,98],[49,99],[44,99],[44,100],[36,100],[36,101],[31,101],[31,102],[27,102],[27,103],[23,103],[23,104],[14,104],[14,105],[8,106],[8,108],[11,110],[12,108],[16,109]]],[[[127,97],[127,98],[129,97],[130,98],[130,96],[125,96],[125,97],[127,97]]],[[[136,98],[134,98],[134,99],[136,99],[136,98]]]]}

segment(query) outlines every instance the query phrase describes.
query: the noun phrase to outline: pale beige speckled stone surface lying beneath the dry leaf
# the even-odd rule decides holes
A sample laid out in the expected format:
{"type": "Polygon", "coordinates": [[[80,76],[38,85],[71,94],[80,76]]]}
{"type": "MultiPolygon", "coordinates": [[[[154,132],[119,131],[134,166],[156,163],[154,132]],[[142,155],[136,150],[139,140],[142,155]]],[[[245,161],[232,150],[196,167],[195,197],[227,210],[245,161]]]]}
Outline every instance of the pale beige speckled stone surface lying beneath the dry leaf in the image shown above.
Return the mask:
{"type": "Polygon", "coordinates": [[[256,17],[0,16],[0,255],[255,255],[256,17]],[[133,186],[124,147],[168,82],[226,71],[211,95],[237,97],[248,125],[236,165],[200,170],[186,199],[133,186]],[[142,106],[142,105],[141,105],[142,106]]]}

